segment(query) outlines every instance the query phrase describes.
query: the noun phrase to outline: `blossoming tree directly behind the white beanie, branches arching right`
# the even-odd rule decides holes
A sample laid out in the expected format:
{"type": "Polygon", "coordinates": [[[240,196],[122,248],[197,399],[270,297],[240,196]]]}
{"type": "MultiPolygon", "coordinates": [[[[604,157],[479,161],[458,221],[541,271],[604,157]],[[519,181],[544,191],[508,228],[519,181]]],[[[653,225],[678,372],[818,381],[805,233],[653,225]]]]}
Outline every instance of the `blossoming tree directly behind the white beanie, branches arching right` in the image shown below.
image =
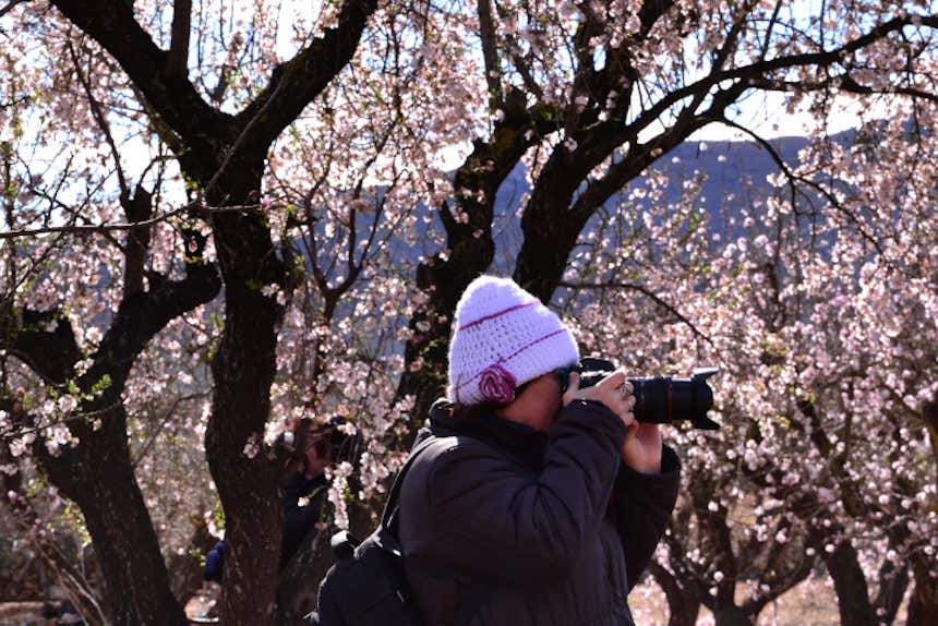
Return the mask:
{"type": "Polygon", "coordinates": [[[708,124],[738,124],[759,94],[819,118],[840,94],[934,98],[928,7],[909,2],[482,0],[459,14],[481,49],[482,132],[435,207],[445,248],[421,263],[401,393],[418,419],[443,392],[449,315],[495,253],[496,192],[524,162],[514,277],[549,301],[577,238],[630,181],[708,124]],[[471,19],[469,11],[471,10],[471,19]],[[903,69],[903,71],[899,71],[903,69]],[[422,329],[423,328],[423,329],[422,329]],[[411,369],[416,370],[411,372],[411,369]]]}

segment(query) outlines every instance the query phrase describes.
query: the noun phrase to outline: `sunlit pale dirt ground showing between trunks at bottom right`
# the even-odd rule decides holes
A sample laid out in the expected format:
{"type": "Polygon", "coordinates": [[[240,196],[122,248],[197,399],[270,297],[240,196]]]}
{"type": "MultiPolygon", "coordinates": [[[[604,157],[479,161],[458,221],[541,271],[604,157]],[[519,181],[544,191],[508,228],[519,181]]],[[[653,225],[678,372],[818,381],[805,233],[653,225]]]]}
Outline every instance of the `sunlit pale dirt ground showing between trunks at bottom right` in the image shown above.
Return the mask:
{"type": "MultiPolygon", "coordinates": [[[[737,590],[737,601],[746,595],[746,589],[737,590]]],[[[893,626],[904,626],[906,594],[893,626]]],[[[636,587],[628,597],[628,604],[640,626],[666,626],[668,602],[664,592],[654,583],[636,587]]],[[[795,587],[775,602],[766,606],[759,615],[758,626],[839,626],[837,595],[829,579],[809,579],[795,587]]],[[[697,626],[713,626],[713,615],[701,607],[697,626]]]]}

